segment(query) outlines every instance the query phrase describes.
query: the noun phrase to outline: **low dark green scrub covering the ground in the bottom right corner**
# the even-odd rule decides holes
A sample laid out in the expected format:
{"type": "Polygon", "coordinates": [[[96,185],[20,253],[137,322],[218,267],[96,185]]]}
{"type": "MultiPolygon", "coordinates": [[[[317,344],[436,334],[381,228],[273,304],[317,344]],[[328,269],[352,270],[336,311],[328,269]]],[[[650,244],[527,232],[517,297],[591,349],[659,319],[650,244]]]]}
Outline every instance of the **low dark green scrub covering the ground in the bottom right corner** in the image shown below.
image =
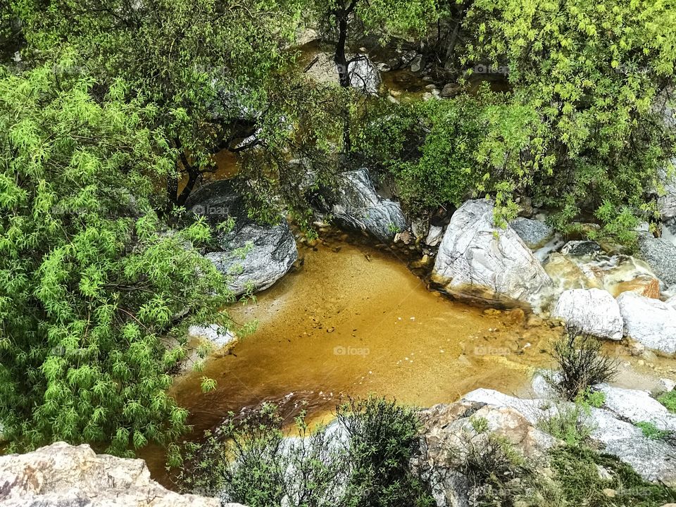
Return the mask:
{"type": "Polygon", "coordinates": [[[646,482],[630,465],[585,446],[553,449],[551,468],[564,505],[654,507],[676,501],[676,490],[646,482]],[[598,466],[611,473],[611,480],[599,477],[598,466]],[[607,496],[603,492],[606,488],[614,489],[615,497],[607,496]]]}

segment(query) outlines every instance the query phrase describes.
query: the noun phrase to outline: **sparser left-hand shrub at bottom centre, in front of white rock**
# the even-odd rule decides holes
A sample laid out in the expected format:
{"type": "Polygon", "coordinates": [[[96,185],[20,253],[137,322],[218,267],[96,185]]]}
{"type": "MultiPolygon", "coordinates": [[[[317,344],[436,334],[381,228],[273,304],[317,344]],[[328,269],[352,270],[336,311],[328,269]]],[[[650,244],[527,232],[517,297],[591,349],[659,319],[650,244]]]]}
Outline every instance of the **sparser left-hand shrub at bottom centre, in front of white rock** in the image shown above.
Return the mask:
{"type": "Polygon", "coordinates": [[[201,444],[174,447],[180,488],[249,507],[337,505],[347,473],[337,434],[322,427],[310,433],[301,416],[294,438],[284,439],[282,423],[277,407],[264,405],[244,420],[231,415],[218,437],[208,432],[201,444]]]}

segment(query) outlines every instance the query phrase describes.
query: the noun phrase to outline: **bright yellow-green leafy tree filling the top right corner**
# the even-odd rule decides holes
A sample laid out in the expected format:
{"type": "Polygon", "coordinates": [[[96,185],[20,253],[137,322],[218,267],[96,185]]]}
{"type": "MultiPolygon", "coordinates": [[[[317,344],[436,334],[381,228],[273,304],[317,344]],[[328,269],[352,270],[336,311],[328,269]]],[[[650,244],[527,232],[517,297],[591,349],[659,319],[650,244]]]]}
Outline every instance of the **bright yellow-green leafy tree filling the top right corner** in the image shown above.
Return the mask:
{"type": "Polygon", "coordinates": [[[558,210],[560,230],[594,213],[598,235],[630,242],[638,217],[656,212],[653,189],[674,153],[663,111],[676,10],[653,1],[475,0],[463,26],[461,61],[508,68],[506,103],[540,118],[527,150],[499,165],[505,190],[558,210]]]}

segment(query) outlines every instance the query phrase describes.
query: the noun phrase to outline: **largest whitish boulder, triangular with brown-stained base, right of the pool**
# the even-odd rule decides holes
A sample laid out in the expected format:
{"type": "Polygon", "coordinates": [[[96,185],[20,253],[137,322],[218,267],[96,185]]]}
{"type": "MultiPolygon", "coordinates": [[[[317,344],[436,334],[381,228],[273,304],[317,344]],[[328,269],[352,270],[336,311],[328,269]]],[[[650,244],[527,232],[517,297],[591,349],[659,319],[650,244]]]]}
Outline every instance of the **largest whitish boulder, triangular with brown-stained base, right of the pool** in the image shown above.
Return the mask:
{"type": "Polygon", "coordinates": [[[453,213],[432,280],[446,292],[489,303],[531,303],[551,278],[519,235],[495,227],[493,203],[467,201],[453,213]]]}

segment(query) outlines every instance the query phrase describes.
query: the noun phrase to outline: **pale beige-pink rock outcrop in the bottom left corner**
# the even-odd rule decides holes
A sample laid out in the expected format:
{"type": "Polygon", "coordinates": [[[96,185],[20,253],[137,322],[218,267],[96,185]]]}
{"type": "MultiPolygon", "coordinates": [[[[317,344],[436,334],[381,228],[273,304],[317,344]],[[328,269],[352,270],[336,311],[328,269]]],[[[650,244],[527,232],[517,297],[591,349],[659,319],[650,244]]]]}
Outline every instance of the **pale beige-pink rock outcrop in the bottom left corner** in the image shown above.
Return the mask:
{"type": "MultiPolygon", "coordinates": [[[[4,507],[220,507],[206,496],[170,492],[151,480],[146,463],[57,442],[0,456],[4,507]]],[[[230,503],[226,507],[238,507],[230,503]]],[[[242,506],[239,506],[242,507],[242,506]]]]}

